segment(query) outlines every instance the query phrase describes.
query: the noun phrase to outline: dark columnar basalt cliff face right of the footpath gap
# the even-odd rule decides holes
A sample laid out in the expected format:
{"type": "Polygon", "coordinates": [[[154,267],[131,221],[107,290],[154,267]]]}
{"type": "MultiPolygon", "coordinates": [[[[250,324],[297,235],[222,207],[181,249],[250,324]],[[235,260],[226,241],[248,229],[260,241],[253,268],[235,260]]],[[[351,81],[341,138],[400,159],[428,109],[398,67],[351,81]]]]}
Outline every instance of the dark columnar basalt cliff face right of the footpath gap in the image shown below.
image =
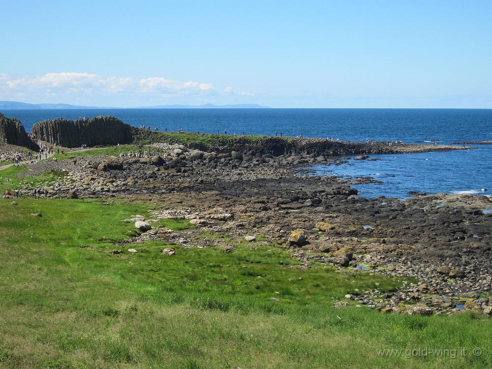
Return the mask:
{"type": "Polygon", "coordinates": [[[65,147],[129,144],[133,141],[134,130],[131,125],[114,117],[47,120],[32,126],[32,133],[37,138],[65,147]]]}

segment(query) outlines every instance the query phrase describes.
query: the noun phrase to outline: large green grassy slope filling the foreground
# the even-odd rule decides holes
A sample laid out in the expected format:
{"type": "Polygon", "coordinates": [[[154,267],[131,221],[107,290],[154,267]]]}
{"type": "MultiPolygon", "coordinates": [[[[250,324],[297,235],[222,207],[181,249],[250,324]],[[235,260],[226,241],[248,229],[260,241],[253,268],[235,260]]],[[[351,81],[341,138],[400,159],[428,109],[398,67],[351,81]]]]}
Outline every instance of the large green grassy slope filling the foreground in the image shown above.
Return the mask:
{"type": "MultiPolygon", "coordinates": [[[[489,319],[337,309],[332,298],[382,275],[308,270],[274,246],[115,245],[139,232],[121,219],[149,204],[0,199],[0,368],[486,368],[489,319]],[[32,217],[41,213],[42,217],[32,217]],[[80,246],[89,246],[82,248],[80,246]],[[122,249],[119,255],[107,251],[122,249]],[[102,252],[98,252],[102,251],[102,252]],[[282,265],[283,263],[284,265],[282,265]],[[244,268],[247,266],[247,268],[244,268]],[[275,297],[278,301],[270,300],[275,297]],[[468,355],[405,357],[405,349],[468,355]],[[471,350],[481,347],[483,354],[471,350]],[[403,349],[378,357],[378,349],[403,349]]],[[[148,215],[152,217],[151,215],[148,215]]],[[[166,219],[174,229],[185,220],[166,219]]]]}

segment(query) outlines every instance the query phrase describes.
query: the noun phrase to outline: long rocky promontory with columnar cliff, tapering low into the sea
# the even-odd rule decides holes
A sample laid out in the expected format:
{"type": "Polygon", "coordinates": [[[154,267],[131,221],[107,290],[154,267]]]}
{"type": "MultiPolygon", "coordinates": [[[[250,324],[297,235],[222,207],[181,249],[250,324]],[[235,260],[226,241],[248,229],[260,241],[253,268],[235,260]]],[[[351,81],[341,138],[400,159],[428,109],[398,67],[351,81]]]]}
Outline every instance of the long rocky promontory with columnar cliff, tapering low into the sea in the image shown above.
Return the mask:
{"type": "Polygon", "coordinates": [[[344,142],[322,138],[279,136],[244,136],[194,132],[159,132],[134,127],[111,116],[68,121],[63,119],[38,122],[32,133],[42,141],[73,148],[117,144],[182,144],[189,149],[219,153],[251,152],[264,155],[359,155],[402,154],[429,151],[462,150],[467,147],[452,145],[404,144],[401,142],[344,142]]]}

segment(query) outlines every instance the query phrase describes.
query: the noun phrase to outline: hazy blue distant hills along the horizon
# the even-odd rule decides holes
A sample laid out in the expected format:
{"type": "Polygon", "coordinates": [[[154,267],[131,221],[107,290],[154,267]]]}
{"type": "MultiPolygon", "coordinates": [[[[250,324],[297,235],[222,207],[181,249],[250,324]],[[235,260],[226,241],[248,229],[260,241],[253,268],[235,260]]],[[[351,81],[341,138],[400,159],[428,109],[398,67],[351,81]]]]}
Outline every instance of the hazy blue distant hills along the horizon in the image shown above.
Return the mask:
{"type": "Polygon", "coordinates": [[[235,104],[235,105],[155,105],[155,106],[140,106],[138,108],[108,108],[101,106],[83,106],[71,104],[28,104],[19,101],[0,101],[1,110],[17,110],[17,109],[270,109],[268,106],[257,104],[235,104]]]}

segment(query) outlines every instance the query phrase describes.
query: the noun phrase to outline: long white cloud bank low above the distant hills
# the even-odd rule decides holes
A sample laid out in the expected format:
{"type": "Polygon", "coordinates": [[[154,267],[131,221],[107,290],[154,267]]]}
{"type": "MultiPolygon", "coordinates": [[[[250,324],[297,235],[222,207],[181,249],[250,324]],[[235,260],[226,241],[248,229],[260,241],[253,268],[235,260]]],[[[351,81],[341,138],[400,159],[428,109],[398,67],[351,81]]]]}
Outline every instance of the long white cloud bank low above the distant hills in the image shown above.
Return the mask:
{"type": "Polygon", "coordinates": [[[135,80],[132,77],[103,77],[89,73],[48,73],[36,77],[13,77],[0,74],[0,92],[43,92],[45,94],[58,94],[62,92],[70,94],[93,93],[153,93],[153,94],[211,94],[215,93],[215,87],[210,83],[195,81],[175,81],[161,77],[151,77],[135,80]]]}

